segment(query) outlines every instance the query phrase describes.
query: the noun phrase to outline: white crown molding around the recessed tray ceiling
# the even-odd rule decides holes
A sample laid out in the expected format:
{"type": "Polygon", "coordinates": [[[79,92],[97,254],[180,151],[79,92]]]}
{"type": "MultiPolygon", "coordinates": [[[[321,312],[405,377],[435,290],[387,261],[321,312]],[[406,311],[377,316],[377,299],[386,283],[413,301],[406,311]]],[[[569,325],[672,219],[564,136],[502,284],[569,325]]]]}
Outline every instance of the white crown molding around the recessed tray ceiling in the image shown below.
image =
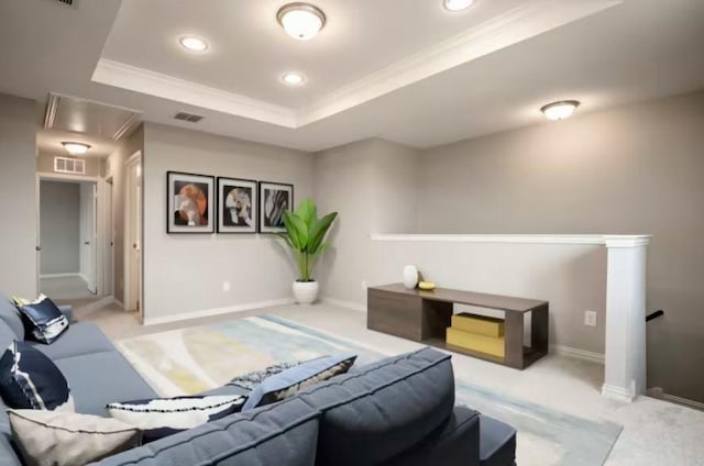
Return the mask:
{"type": "Polygon", "coordinates": [[[222,113],[298,129],[616,7],[623,1],[535,0],[527,2],[462,34],[342,86],[299,109],[252,99],[108,58],[101,58],[98,62],[92,80],[222,113]]]}

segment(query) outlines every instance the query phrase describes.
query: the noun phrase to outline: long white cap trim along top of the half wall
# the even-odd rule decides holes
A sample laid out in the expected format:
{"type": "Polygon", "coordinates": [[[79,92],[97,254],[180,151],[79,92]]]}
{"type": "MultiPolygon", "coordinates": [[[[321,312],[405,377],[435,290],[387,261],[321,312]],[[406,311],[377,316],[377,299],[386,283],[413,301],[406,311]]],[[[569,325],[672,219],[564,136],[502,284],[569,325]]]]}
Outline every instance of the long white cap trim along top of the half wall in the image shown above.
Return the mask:
{"type": "Polygon", "coordinates": [[[510,244],[648,244],[651,235],[604,234],[370,234],[372,241],[431,242],[431,243],[510,243],[510,244]]]}

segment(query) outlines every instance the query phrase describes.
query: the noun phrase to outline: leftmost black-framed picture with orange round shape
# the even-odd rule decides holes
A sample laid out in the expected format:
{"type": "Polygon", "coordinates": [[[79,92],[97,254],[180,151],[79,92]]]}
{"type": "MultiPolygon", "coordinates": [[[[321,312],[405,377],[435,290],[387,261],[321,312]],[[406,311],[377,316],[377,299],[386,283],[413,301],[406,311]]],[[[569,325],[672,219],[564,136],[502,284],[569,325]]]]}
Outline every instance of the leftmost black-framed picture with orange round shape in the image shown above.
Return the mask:
{"type": "Polygon", "coordinates": [[[215,233],[215,177],[166,171],[166,233],[215,233]]]}

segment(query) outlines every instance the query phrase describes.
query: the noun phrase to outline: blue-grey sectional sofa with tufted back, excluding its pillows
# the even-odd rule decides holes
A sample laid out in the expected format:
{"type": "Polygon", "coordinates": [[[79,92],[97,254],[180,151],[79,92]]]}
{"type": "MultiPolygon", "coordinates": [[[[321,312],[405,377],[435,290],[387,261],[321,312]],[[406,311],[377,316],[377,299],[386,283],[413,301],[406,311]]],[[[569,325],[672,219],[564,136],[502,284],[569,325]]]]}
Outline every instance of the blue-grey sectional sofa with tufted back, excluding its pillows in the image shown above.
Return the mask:
{"type": "MultiPolygon", "coordinates": [[[[65,309],[70,314],[70,310],[65,309]]],[[[0,297],[0,344],[22,340],[22,322],[0,297]]],[[[156,393],[90,323],[73,323],[36,345],[61,368],[76,411],[156,393]]],[[[216,393],[242,392],[231,386],[216,393]]],[[[0,466],[21,465],[0,407],[0,466]]],[[[516,431],[454,404],[450,356],[431,348],[354,368],[275,404],[233,414],[100,462],[127,465],[512,466],[516,431]]]]}

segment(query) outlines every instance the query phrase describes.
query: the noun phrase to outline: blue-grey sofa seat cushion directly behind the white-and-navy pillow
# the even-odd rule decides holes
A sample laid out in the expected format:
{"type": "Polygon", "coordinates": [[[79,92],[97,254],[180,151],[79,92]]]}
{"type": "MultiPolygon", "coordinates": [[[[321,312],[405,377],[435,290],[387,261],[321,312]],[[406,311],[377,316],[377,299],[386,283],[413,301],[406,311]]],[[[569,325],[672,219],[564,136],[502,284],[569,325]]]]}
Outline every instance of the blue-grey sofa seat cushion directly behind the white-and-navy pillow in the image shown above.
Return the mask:
{"type": "Polygon", "coordinates": [[[106,404],[120,400],[156,398],[154,390],[118,352],[96,353],[56,360],[68,380],[76,412],[108,415],[106,404]]]}

